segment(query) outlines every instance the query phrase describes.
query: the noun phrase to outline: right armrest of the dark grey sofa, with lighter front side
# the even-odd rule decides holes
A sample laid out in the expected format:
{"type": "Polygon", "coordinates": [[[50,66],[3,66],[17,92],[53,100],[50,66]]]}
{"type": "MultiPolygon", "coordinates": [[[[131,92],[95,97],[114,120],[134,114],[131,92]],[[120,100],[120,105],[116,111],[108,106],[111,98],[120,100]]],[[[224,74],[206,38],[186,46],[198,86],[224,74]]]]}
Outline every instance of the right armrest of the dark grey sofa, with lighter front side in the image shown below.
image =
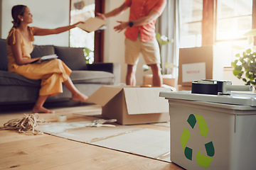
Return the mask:
{"type": "Polygon", "coordinates": [[[93,64],[87,64],[87,70],[110,72],[114,74],[114,85],[120,83],[120,64],[113,62],[97,62],[93,64]]]}

